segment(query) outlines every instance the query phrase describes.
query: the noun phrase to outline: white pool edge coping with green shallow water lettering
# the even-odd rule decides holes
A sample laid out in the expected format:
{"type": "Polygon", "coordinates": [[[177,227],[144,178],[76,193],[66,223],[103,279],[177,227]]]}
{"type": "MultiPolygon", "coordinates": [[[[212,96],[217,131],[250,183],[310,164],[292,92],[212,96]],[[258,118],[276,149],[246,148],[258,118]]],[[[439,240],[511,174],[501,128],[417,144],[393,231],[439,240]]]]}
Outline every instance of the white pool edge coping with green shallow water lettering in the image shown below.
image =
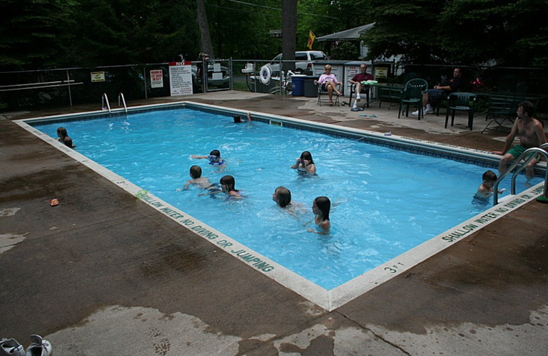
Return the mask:
{"type": "MultiPolygon", "coordinates": [[[[158,107],[170,107],[170,106],[173,106],[175,108],[175,107],[179,107],[181,105],[186,105],[186,104],[188,104],[188,106],[190,107],[192,106],[203,107],[210,110],[220,110],[224,112],[226,111],[237,112],[240,114],[247,113],[246,111],[243,111],[243,110],[235,110],[227,107],[186,102],[186,101],[180,101],[177,103],[142,105],[142,106],[132,107],[132,108],[128,107],[128,111],[132,112],[136,110],[155,109],[158,107]]],[[[116,114],[118,114],[120,111],[121,110],[116,110],[116,111],[113,110],[113,112],[115,112],[116,114]]],[[[537,196],[540,196],[543,193],[543,188],[544,188],[543,183],[538,183],[536,186],[532,186],[531,188],[525,190],[525,192],[522,192],[521,194],[516,194],[514,196],[506,196],[504,197],[504,199],[502,199],[501,203],[499,203],[498,205],[494,207],[490,207],[490,209],[486,210],[485,212],[482,212],[481,214],[478,214],[477,216],[474,216],[473,218],[470,218],[469,220],[466,220],[464,223],[461,223],[457,225],[456,227],[453,227],[443,233],[440,233],[438,236],[435,236],[434,238],[431,238],[423,242],[422,244],[419,244],[419,246],[416,246],[413,249],[406,251],[405,253],[391,259],[390,261],[384,264],[381,264],[377,266],[376,268],[373,268],[372,270],[369,270],[358,277],[351,279],[351,281],[348,281],[342,285],[339,285],[338,287],[332,290],[326,290],[325,288],[322,288],[319,285],[316,285],[315,283],[308,281],[308,279],[297,275],[297,273],[292,272],[291,270],[288,270],[288,268],[285,268],[284,266],[277,264],[273,260],[267,257],[264,257],[260,253],[257,253],[256,251],[249,249],[247,246],[240,244],[236,240],[229,238],[228,236],[221,233],[220,231],[216,231],[216,229],[213,229],[209,225],[204,224],[200,220],[197,220],[193,218],[192,216],[182,212],[182,210],[177,209],[176,207],[173,207],[173,205],[170,205],[166,203],[165,201],[162,201],[162,199],[159,199],[157,196],[154,196],[153,194],[150,194],[148,192],[146,194],[140,194],[144,190],[136,186],[134,183],[127,181],[125,178],[121,177],[120,175],[117,175],[111,170],[108,170],[107,168],[101,166],[97,162],[90,160],[88,157],[82,155],[81,153],[78,153],[77,151],[74,151],[73,149],[66,147],[61,142],[58,142],[58,140],[56,140],[55,138],[51,138],[47,134],[42,133],[38,129],[35,129],[31,125],[27,124],[27,122],[29,121],[44,122],[44,121],[55,120],[59,118],[84,117],[84,116],[89,116],[90,114],[108,114],[108,112],[95,111],[95,112],[84,112],[84,113],[77,113],[77,114],[42,116],[40,118],[27,118],[27,119],[21,119],[21,120],[14,120],[13,122],[16,123],[16,125],[23,127],[23,129],[29,131],[30,133],[33,133],[35,136],[38,136],[38,138],[41,138],[45,142],[51,144],[56,149],[59,149],[60,151],[66,153],[66,155],[69,155],[69,157],[72,157],[77,162],[84,164],[84,166],[87,166],[88,168],[99,173],[99,175],[105,177],[109,181],[112,181],[112,183],[116,184],[116,186],[119,186],[123,190],[129,192],[129,194],[132,194],[133,196],[140,196],[141,201],[143,201],[144,203],[147,203],[147,205],[153,207],[153,209],[156,209],[161,214],[168,216],[175,222],[179,223],[179,225],[186,227],[186,229],[188,229],[189,231],[197,233],[198,236],[201,236],[201,238],[208,240],[210,243],[214,244],[214,246],[218,247],[219,249],[223,249],[223,251],[229,253],[229,255],[236,257],[236,259],[240,260],[241,262],[244,262],[245,264],[249,265],[251,268],[257,270],[258,272],[261,272],[263,275],[266,275],[266,277],[269,277],[273,279],[274,281],[277,281],[277,283],[284,285],[286,288],[292,290],[293,292],[296,292],[297,294],[303,296],[303,298],[308,299],[312,303],[319,305],[320,307],[322,307],[323,309],[326,309],[329,312],[331,312],[332,310],[342,305],[345,305],[349,301],[352,301],[354,298],[357,298],[358,296],[366,292],[369,292],[369,290],[372,290],[378,285],[385,283],[386,281],[392,279],[393,277],[396,277],[397,275],[401,275],[401,273],[405,272],[406,270],[409,270],[410,268],[416,266],[417,264],[420,264],[421,262],[425,261],[429,257],[432,257],[433,255],[436,255],[440,251],[447,249],[449,246],[452,246],[453,244],[456,244],[457,242],[462,241],[463,238],[465,238],[466,236],[469,236],[471,233],[474,233],[478,231],[479,229],[482,229],[483,227],[489,225],[490,223],[493,223],[499,218],[502,218],[503,216],[510,214],[510,212],[513,212],[515,209],[536,199],[537,196]],[[245,251],[245,252],[242,252],[242,251],[245,251]],[[242,259],[240,256],[238,256],[240,253],[242,254],[241,257],[245,257],[245,259],[242,259]],[[272,266],[273,268],[270,269],[268,266],[272,266]],[[262,267],[266,270],[263,270],[262,268],[259,268],[259,267],[262,267]]],[[[384,136],[382,133],[377,133],[374,131],[353,129],[349,127],[340,127],[332,124],[313,123],[307,120],[289,118],[286,116],[277,116],[273,114],[264,114],[260,112],[251,112],[251,114],[260,115],[261,118],[270,118],[271,120],[277,120],[277,121],[281,120],[282,122],[286,121],[288,123],[295,123],[297,125],[303,125],[306,127],[321,127],[329,131],[336,131],[340,133],[353,133],[353,134],[358,133],[358,134],[363,134],[364,136],[386,138],[386,136],[384,136]]],[[[476,149],[466,149],[464,147],[456,147],[448,144],[440,144],[438,142],[423,141],[423,140],[418,140],[414,138],[406,138],[403,136],[389,136],[389,139],[397,140],[399,142],[403,142],[407,144],[421,144],[421,146],[423,147],[435,147],[436,149],[443,149],[447,151],[459,151],[460,153],[465,155],[474,155],[476,157],[482,157],[487,159],[493,159],[493,157],[497,157],[490,153],[486,153],[485,151],[480,151],[476,149]]]]}

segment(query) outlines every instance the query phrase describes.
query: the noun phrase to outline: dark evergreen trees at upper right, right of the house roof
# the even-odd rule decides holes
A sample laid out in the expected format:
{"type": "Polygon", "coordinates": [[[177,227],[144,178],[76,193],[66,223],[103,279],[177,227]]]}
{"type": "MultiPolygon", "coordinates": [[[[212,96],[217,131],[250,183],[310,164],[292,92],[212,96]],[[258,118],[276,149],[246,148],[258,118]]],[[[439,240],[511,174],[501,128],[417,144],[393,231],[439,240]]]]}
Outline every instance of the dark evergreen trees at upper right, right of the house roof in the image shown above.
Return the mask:
{"type": "Polygon", "coordinates": [[[548,64],[543,0],[371,0],[375,27],[364,40],[372,58],[414,63],[548,64]]]}

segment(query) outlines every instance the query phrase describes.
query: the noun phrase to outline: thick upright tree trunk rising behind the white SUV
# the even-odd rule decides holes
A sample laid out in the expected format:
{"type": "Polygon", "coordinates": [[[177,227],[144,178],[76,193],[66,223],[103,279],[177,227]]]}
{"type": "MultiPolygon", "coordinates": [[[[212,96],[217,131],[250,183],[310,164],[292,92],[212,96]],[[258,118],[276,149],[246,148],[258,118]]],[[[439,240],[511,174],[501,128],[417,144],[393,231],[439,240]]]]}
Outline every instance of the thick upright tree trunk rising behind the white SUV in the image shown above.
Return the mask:
{"type": "MultiPolygon", "coordinates": [[[[285,60],[295,60],[297,42],[297,0],[282,0],[282,53],[285,60]]],[[[283,71],[295,71],[295,62],[284,62],[283,71]]]]}

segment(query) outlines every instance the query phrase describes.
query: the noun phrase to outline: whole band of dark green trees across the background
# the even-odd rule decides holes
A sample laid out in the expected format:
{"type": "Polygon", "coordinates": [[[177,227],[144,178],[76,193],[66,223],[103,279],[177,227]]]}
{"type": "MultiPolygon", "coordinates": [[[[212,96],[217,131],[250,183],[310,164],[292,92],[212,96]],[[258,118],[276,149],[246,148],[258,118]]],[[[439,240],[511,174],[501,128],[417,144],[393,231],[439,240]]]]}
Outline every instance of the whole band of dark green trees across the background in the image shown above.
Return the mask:
{"type": "MultiPolygon", "coordinates": [[[[179,53],[195,60],[197,1],[217,58],[281,51],[269,34],[282,28],[279,0],[0,0],[0,70],[166,62],[179,53]]],[[[547,17],[545,0],[300,0],[296,49],[306,49],[309,30],[324,36],[375,22],[364,36],[370,59],[546,67],[547,17]]]]}

